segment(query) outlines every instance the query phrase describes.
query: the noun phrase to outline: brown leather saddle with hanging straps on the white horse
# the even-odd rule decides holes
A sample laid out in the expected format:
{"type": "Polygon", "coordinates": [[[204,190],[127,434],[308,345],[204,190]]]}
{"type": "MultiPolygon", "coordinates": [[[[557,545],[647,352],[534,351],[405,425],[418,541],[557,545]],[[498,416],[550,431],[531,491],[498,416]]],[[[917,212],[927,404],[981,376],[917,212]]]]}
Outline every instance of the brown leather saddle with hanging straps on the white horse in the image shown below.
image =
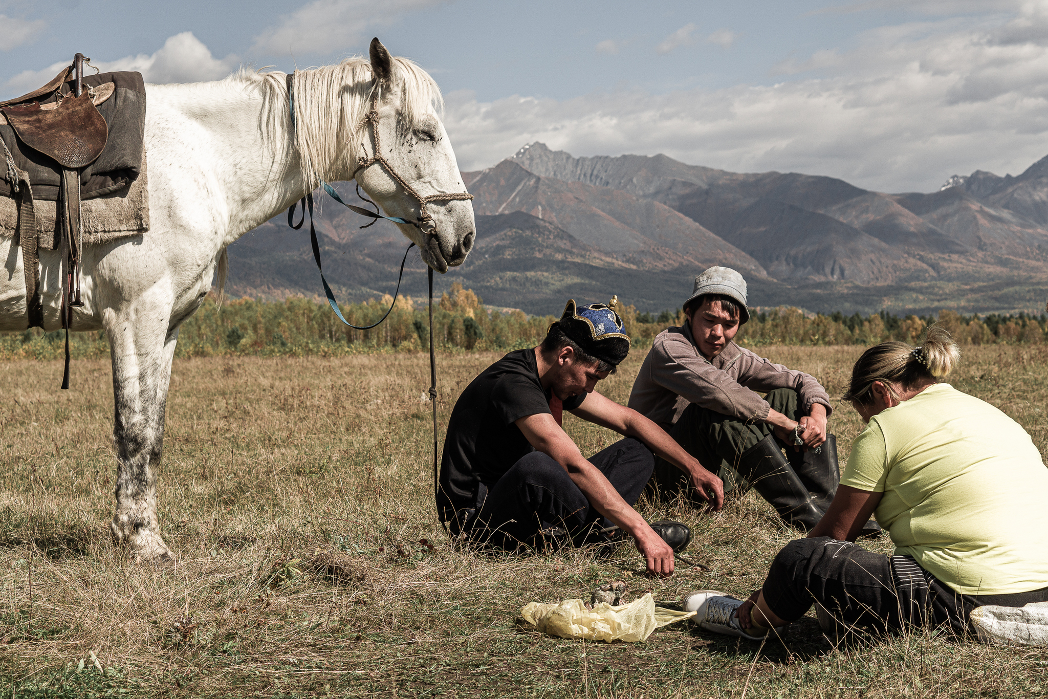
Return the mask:
{"type": "MultiPolygon", "coordinates": [[[[68,332],[72,318],[71,308],[83,306],[80,298],[80,264],[83,250],[81,230],[81,172],[102,154],[109,139],[109,127],[94,105],[93,91],[84,91],[83,71],[85,59],[78,53],[72,65],[60,72],[47,85],[23,94],[21,97],[0,103],[0,113],[18,136],[22,154],[26,150],[47,156],[58,165],[61,173],[59,212],[61,226],[56,226],[54,242],[65,252],[62,327],[66,330],[66,370],[62,388],[69,386],[68,332]],[[61,93],[61,87],[74,78],[72,93],[61,93]],[[43,108],[40,97],[57,96],[53,105],[43,108]],[[59,230],[61,227],[61,230],[59,230]]],[[[0,141],[2,143],[2,141],[0,141]]],[[[38,234],[32,206],[32,184],[25,170],[17,167],[7,145],[3,144],[7,166],[7,181],[13,194],[18,194],[18,244],[22,247],[25,270],[25,296],[29,327],[43,327],[43,303],[40,297],[40,270],[38,267],[38,234]]]]}

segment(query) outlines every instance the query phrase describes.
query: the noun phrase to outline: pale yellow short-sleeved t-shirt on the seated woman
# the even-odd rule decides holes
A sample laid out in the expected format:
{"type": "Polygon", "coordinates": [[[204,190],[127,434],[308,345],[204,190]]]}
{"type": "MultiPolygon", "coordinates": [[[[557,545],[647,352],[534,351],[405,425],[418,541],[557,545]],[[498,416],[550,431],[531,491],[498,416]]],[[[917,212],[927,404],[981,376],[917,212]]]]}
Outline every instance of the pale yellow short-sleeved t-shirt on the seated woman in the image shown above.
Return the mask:
{"type": "Polygon", "coordinates": [[[963,594],[1048,587],[1048,468],[1010,417],[948,384],[870,420],[843,485],[883,493],[877,522],[963,594]]]}

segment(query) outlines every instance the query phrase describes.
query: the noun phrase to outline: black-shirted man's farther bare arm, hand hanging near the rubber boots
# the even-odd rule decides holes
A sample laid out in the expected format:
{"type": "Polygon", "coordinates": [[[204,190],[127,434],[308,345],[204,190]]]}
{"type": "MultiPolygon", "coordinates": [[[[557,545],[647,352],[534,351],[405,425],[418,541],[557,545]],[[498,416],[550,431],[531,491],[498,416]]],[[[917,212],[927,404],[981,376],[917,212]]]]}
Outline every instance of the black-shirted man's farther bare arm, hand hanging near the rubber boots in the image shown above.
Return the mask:
{"type": "Polygon", "coordinates": [[[720,509],[724,504],[724,483],[721,479],[704,468],[698,459],[685,452],[664,430],[637,411],[594,391],[571,414],[614,430],[620,435],[639,439],[655,454],[687,474],[692,485],[709,502],[711,507],[720,509]]]}

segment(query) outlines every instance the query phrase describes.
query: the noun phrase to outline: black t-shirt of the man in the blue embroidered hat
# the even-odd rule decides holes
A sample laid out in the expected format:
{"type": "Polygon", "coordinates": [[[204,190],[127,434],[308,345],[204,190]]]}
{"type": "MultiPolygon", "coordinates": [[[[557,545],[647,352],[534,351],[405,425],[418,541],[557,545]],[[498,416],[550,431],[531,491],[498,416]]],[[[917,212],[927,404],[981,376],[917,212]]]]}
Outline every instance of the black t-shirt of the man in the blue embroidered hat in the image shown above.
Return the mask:
{"type": "MultiPolygon", "coordinates": [[[[437,494],[441,522],[476,507],[478,483],[492,486],[534,451],[515,422],[528,415],[554,414],[551,399],[554,407],[560,402],[542,388],[533,349],[510,352],[470,383],[447,422],[437,494]]],[[[563,410],[574,410],[585,399],[585,393],[573,396],[563,410]]]]}

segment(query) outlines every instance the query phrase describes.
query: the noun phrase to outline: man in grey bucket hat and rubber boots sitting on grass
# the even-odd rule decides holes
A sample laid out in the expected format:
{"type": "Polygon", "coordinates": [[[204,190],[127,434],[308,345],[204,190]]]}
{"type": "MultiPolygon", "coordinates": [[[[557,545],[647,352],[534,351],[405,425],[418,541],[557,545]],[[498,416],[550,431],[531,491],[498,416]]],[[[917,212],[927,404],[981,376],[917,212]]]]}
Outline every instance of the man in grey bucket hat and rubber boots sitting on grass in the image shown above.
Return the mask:
{"type": "MultiPolygon", "coordinates": [[[[709,267],[696,277],[683,308],[684,325],[655,337],[630,408],[707,467],[726,463],[786,522],[813,528],[840,480],[836,439],[826,432],[829,395],[812,376],[733,342],[749,320],[746,282],[735,269],[709,267]]],[[[662,460],[650,487],[696,499],[680,471],[662,460]]],[[[878,529],[871,522],[864,532],[878,529]]]]}

